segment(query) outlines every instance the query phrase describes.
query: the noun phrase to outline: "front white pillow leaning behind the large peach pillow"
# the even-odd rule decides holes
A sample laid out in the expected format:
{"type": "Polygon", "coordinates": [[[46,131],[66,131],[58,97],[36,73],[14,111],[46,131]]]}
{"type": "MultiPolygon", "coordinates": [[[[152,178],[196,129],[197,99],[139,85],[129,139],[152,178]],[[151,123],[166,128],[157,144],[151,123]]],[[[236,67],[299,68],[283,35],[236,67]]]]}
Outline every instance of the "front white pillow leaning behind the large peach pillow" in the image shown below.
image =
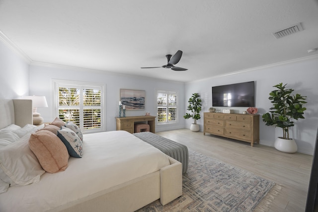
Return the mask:
{"type": "Polygon", "coordinates": [[[0,178],[10,186],[24,186],[40,181],[45,173],[29,148],[30,134],[0,148],[0,178]],[[3,173],[5,175],[3,175],[3,173]]]}

